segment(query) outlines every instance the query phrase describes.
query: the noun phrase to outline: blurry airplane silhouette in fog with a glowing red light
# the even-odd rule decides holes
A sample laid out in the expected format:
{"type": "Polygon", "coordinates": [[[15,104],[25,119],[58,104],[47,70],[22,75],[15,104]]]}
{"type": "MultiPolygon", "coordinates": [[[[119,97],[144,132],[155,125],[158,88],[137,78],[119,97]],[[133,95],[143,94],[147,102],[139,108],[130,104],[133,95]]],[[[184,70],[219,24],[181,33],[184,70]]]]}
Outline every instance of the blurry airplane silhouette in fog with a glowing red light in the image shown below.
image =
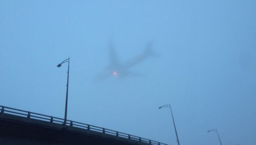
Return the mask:
{"type": "Polygon", "coordinates": [[[149,42],[143,53],[137,55],[126,63],[120,63],[113,47],[113,43],[111,42],[109,46],[110,63],[105,70],[96,77],[96,80],[102,80],[110,76],[119,79],[131,76],[142,76],[142,74],[130,72],[128,69],[154,55],[155,54],[152,52],[152,43],[149,42]]]}

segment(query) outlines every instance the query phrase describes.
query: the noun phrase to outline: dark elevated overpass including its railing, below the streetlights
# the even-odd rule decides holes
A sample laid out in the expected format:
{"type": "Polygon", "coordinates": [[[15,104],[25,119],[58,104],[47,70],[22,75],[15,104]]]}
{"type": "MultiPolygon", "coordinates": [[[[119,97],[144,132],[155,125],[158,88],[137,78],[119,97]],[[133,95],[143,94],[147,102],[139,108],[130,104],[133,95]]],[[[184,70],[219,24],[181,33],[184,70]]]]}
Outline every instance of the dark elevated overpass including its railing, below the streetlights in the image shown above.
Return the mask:
{"type": "Polygon", "coordinates": [[[0,143],[26,145],[167,145],[86,123],[0,106],[0,143]]]}

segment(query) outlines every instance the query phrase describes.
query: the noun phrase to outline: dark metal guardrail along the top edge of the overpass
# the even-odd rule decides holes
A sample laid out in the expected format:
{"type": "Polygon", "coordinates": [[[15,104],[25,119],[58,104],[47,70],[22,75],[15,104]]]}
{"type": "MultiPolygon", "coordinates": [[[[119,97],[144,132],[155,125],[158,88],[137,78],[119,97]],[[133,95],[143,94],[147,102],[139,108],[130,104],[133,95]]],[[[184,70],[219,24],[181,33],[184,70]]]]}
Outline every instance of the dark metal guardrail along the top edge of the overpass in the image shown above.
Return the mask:
{"type": "MultiPolygon", "coordinates": [[[[48,116],[48,115],[38,114],[38,113],[24,111],[24,110],[20,110],[20,109],[14,109],[14,108],[5,107],[5,106],[0,106],[0,107],[1,107],[1,109],[0,109],[1,114],[6,113],[6,114],[18,115],[18,116],[37,119],[37,120],[42,120],[42,121],[49,121],[49,122],[52,122],[52,123],[59,123],[59,124],[64,123],[64,119],[62,119],[62,118],[52,117],[52,116],[48,116]]],[[[150,139],[142,138],[142,137],[139,137],[139,136],[134,136],[134,135],[130,135],[130,134],[127,134],[127,133],[114,131],[114,130],[111,130],[111,129],[106,129],[106,128],[102,128],[102,127],[98,127],[98,126],[94,126],[94,125],[89,125],[89,124],[86,124],[86,123],[81,123],[81,122],[76,122],[76,121],[71,121],[71,120],[66,120],[66,121],[67,121],[66,124],[69,125],[69,126],[74,126],[74,127],[84,128],[84,129],[87,129],[87,130],[92,130],[92,131],[105,133],[105,134],[115,135],[115,136],[118,136],[118,137],[127,138],[127,139],[131,139],[131,140],[136,140],[136,141],[139,141],[139,142],[144,142],[144,143],[148,143],[148,144],[152,144],[152,145],[167,145],[167,144],[157,142],[157,141],[154,141],[154,140],[150,140],[150,139]]]]}

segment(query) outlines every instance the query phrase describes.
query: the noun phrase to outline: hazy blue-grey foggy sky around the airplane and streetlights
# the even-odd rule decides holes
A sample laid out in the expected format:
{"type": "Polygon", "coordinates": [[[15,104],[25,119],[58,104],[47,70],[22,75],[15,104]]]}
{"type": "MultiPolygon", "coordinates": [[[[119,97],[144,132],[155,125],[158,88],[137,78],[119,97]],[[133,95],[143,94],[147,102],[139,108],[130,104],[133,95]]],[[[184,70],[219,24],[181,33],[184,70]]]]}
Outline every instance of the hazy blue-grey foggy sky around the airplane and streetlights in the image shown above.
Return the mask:
{"type": "Polygon", "coordinates": [[[0,1],[0,105],[181,145],[256,143],[256,1],[0,1]],[[151,41],[144,76],[95,82],[151,41]]]}

